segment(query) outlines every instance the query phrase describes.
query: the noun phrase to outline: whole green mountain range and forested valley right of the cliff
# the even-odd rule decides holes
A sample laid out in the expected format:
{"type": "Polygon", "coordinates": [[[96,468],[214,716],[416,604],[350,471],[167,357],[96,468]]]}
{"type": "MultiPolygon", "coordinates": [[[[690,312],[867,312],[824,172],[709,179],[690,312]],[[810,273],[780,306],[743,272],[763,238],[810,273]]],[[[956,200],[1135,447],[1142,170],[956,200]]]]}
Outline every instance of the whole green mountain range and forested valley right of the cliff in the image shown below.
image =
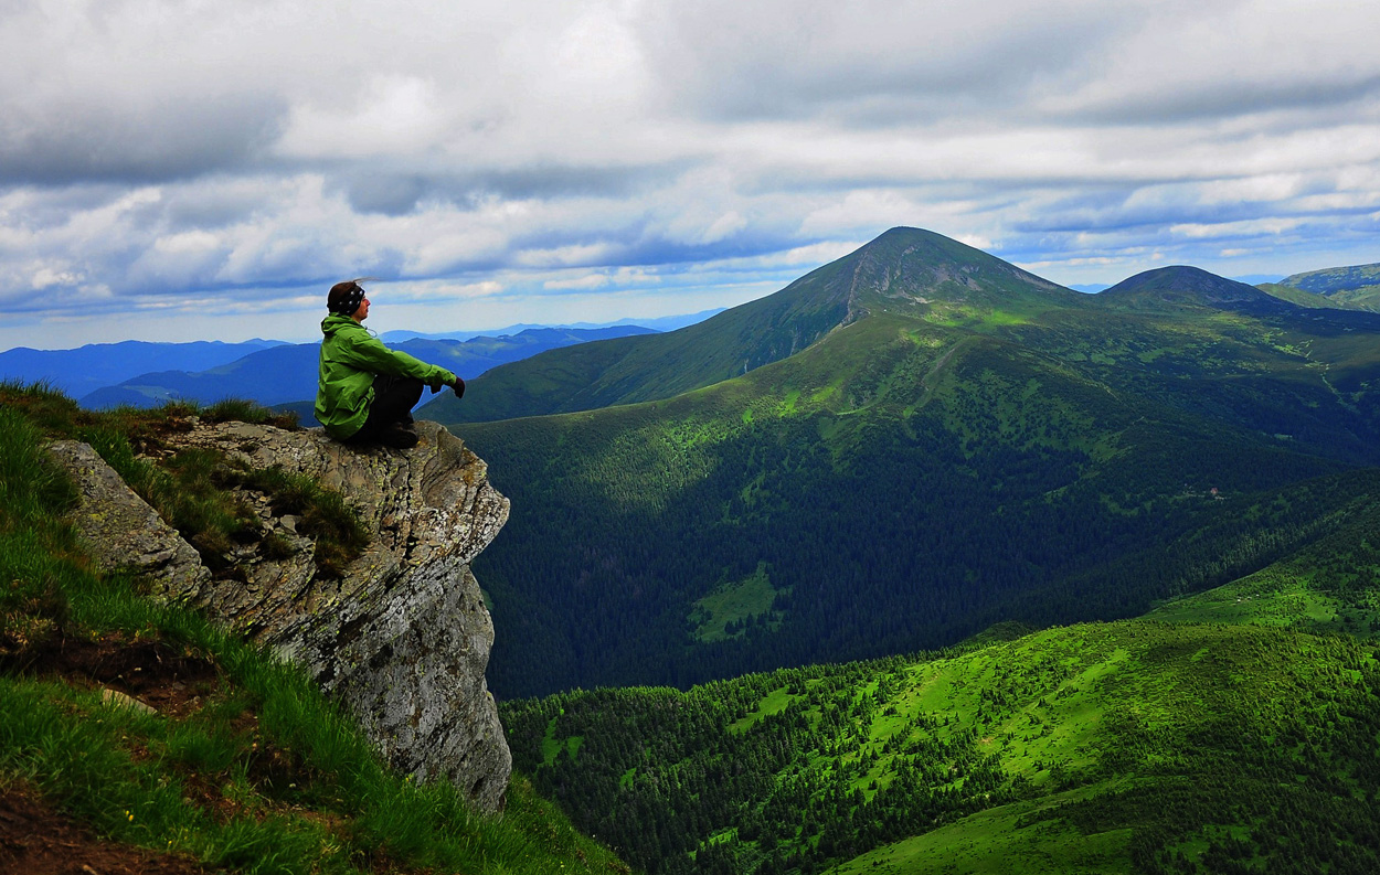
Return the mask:
{"type": "Polygon", "coordinates": [[[1380,319],[1070,294],[900,229],[704,323],[730,380],[495,371],[595,368],[451,426],[518,767],[668,875],[1380,867],[1380,319]]]}

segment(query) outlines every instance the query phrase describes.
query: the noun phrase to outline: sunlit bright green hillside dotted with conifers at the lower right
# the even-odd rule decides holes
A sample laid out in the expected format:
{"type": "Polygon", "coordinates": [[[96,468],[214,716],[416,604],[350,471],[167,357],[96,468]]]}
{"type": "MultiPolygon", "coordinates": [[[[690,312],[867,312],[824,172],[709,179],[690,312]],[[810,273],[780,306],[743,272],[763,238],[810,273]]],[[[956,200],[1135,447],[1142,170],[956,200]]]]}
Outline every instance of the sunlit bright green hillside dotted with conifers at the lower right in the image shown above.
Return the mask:
{"type": "MultiPolygon", "coordinates": [[[[1372,649],[1350,638],[1123,621],[689,693],[567,694],[505,716],[519,762],[581,825],[636,843],[618,824],[650,805],[700,824],[700,863],[727,860],[704,871],[1221,871],[1231,854],[1365,871],[1380,863],[1366,846],[1377,683],[1372,649]],[[529,741],[566,733],[582,737],[570,762],[544,763],[529,741]],[[748,776],[720,802],[702,776],[726,763],[748,776]]],[[[679,860],[646,863],[678,872],[679,860]]]]}

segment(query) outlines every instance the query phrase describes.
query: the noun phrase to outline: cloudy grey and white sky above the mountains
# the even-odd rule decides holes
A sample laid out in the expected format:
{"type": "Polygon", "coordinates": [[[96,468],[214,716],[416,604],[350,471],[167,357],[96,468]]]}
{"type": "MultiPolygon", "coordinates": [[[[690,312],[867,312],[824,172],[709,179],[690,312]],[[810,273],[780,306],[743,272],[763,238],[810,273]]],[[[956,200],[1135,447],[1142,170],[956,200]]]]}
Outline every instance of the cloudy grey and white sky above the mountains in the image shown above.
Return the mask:
{"type": "Polygon", "coordinates": [[[0,0],[0,348],[738,304],[894,225],[1380,261],[1380,4],[0,0]]]}

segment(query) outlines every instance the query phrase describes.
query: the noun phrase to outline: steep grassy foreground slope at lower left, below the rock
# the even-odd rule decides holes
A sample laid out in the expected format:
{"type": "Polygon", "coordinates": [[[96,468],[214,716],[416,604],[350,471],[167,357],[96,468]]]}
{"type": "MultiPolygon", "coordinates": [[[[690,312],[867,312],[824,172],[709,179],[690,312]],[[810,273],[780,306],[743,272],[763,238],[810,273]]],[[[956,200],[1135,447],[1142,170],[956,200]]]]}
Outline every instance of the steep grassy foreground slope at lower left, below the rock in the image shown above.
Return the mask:
{"type": "MultiPolygon", "coordinates": [[[[70,409],[41,395],[15,399],[43,402],[30,404],[40,415],[70,409]]],[[[108,431],[137,421],[84,415],[108,431]]],[[[41,443],[19,406],[0,407],[0,787],[36,787],[106,839],[228,871],[622,867],[520,777],[497,818],[448,784],[413,785],[291,668],[150,604],[137,581],[94,574],[58,519],[73,493],[41,443]],[[203,667],[199,698],[153,715],[106,705],[88,669],[57,668],[84,651],[102,664],[153,654],[149,672],[203,667]]],[[[168,685],[186,686],[175,674],[168,685]]]]}

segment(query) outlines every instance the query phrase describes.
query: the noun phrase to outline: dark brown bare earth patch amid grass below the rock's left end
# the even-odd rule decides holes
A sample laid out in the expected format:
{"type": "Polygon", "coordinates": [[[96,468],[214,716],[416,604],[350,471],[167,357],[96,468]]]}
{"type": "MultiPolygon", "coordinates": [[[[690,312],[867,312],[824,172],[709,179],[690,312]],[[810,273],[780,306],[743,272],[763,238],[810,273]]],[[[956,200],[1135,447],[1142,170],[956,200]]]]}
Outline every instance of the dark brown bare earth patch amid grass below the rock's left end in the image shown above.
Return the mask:
{"type": "Polygon", "coordinates": [[[86,640],[58,633],[41,645],[0,656],[0,671],[110,687],[172,718],[197,711],[219,687],[219,672],[204,657],[164,642],[116,636],[86,640]]]}

